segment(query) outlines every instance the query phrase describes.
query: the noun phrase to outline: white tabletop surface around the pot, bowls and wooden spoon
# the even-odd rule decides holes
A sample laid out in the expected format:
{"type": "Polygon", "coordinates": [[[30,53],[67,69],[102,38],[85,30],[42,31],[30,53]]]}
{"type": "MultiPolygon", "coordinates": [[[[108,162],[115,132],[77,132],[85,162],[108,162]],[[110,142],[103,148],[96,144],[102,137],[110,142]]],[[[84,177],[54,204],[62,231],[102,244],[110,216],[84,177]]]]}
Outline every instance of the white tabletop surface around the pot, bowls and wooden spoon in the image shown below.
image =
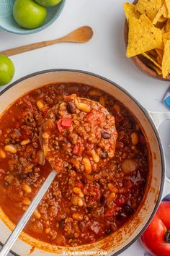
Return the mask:
{"type": "MultiPolygon", "coordinates": [[[[13,35],[0,30],[2,51],[40,40],[58,38],[81,25],[90,25],[94,29],[94,38],[86,44],[58,44],[12,56],[16,67],[13,81],[43,69],[82,69],[117,82],[148,110],[167,111],[161,99],[170,83],[146,76],[125,57],[123,2],[124,0],[68,0],[59,19],[40,33],[13,35]]],[[[169,128],[169,121],[160,127],[167,166],[170,164],[169,128]]],[[[144,249],[139,242],[135,242],[121,256],[135,256],[137,253],[138,256],[144,255],[144,249]]]]}

